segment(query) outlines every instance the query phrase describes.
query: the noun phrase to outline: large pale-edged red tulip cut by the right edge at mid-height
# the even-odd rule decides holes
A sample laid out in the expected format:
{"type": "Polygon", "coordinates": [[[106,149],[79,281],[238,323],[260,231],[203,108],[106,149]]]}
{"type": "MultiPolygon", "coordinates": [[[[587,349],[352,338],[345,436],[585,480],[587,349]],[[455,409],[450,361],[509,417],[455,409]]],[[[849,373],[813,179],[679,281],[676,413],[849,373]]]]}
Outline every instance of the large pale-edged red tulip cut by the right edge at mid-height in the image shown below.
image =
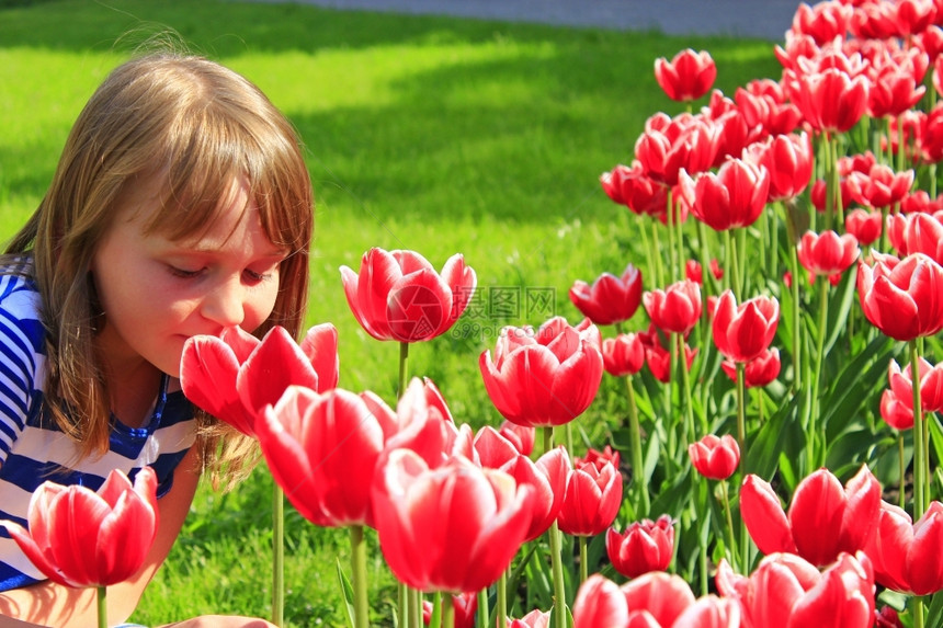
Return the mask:
{"type": "Polygon", "coordinates": [[[864,316],[885,335],[910,341],[943,329],[943,267],[922,253],[857,266],[864,316]]]}

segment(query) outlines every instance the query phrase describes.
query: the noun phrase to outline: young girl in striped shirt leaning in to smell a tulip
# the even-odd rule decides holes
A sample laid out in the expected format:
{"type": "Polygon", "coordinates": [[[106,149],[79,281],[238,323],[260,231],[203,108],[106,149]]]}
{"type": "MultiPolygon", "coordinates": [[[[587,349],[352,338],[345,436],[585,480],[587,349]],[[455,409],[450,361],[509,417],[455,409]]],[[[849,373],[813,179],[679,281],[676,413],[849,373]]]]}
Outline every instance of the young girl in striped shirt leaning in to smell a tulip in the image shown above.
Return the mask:
{"type": "MultiPolygon", "coordinates": [[[[239,75],[157,54],[92,95],[38,209],[0,258],[0,519],[25,525],[44,480],[92,489],[109,471],[158,476],[159,530],[112,587],[124,621],[180,532],[201,471],[253,448],[196,412],[178,377],[184,341],[304,320],[313,197],[298,138],[239,75]]],[[[2,615],[94,625],[93,590],[43,580],[0,526],[2,615]]],[[[11,620],[12,621],[12,620],[11,620]]],[[[181,626],[269,626],[204,617],[181,626]]]]}

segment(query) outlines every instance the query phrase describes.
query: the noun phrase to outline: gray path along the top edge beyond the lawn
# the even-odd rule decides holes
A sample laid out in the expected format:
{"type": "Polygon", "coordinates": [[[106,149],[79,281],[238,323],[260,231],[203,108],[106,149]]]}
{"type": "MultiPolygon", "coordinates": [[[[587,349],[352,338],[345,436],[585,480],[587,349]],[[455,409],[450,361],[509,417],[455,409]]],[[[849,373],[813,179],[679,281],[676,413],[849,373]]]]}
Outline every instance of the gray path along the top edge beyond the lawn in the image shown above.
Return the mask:
{"type": "MultiPolygon", "coordinates": [[[[394,13],[511,22],[657,28],[670,35],[739,35],[782,42],[799,0],[294,0],[394,13]]],[[[811,0],[808,0],[811,3],[811,0]]]]}

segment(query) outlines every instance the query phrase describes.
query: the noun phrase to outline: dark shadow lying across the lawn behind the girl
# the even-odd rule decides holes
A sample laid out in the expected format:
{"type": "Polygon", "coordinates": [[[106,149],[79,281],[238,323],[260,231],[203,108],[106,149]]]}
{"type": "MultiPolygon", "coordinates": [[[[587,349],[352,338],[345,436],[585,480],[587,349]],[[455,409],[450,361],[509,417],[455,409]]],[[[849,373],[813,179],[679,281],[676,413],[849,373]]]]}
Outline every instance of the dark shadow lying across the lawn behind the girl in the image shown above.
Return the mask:
{"type": "MultiPolygon", "coordinates": [[[[729,94],[780,71],[765,42],[240,2],[70,1],[7,10],[0,12],[0,46],[101,52],[143,23],[168,24],[224,64],[248,50],[516,44],[507,58],[457,58],[395,81],[388,104],[286,112],[307,145],[322,204],[353,205],[379,222],[486,214],[512,222],[609,220],[600,173],[632,159],[648,116],[681,111],[656,87],[657,57],[686,46],[711,50],[716,87],[729,94]],[[755,54],[743,58],[743,50],[755,54]],[[505,88],[513,98],[501,93],[505,88]],[[476,95],[488,93],[501,98],[476,95]]],[[[4,173],[11,193],[41,195],[60,148],[11,153],[0,146],[0,163],[20,164],[4,173]]]]}

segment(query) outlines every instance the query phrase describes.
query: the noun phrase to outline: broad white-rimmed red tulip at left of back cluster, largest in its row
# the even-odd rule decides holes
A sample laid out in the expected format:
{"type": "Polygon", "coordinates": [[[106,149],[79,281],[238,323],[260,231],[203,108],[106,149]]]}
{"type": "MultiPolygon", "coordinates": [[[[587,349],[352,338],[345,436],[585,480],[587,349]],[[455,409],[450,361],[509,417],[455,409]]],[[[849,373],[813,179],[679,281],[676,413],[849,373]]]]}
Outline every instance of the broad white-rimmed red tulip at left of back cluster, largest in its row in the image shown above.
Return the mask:
{"type": "Polygon", "coordinates": [[[764,165],[731,158],[716,174],[705,172],[696,181],[681,172],[679,185],[691,213],[715,231],[725,231],[749,227],[763,213],[770,171],[764,165]]]}

